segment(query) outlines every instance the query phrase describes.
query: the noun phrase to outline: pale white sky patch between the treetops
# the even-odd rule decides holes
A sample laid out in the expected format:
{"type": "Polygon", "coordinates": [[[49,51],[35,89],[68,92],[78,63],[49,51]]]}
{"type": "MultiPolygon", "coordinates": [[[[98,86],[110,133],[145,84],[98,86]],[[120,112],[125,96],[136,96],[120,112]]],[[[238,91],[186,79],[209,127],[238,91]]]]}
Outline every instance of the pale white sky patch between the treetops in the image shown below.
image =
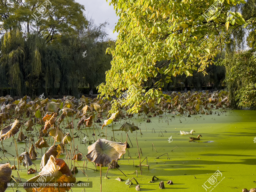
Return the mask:
{"type": "Polygon", "coordinates": [[[113,5],[109,5],[111,0],[76,0],[78,3],[84,5],[85,15],[94,19],[95,24],[104,23],[107,21],[109,25],[106,27],[106,32],[109,37],[116,40],[117,33],[113,34],[115,23],[118,22],[118,17],[115,14],[113,5]]]}

